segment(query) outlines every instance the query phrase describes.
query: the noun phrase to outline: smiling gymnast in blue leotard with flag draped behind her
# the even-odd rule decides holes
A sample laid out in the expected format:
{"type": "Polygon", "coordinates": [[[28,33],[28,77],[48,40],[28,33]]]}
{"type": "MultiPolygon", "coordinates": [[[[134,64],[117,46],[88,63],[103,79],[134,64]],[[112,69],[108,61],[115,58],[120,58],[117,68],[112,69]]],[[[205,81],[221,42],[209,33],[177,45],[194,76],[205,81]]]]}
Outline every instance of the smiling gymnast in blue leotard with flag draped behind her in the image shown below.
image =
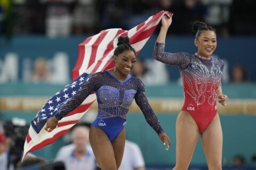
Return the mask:
{"type": "Polygon", "coordinates": [[[62,117],[81,105],[95,91],[98,115],[92,123],[89,138],[101,169],[118,169],[121,165],[125,144],[124,126],[133,99],[159,139],[163,143],[167,142],[166,150],[171,144],[148,103],[142,81],[130,75],[136,57],[129,38],[118,37],[117,46],[114,69],[92,74],[78,93],[46,123],[46,129],[54,129],[62,117]]]}

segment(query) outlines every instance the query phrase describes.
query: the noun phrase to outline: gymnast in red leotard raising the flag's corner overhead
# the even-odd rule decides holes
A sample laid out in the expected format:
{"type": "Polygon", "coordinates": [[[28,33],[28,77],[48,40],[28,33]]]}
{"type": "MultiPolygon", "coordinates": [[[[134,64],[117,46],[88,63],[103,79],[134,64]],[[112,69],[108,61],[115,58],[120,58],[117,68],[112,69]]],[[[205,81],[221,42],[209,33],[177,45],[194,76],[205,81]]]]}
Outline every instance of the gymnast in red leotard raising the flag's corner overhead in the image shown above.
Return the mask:
{"type": "Polygon", "coordinates": [[[192,29],[198,50],[195,54],[166,53],[165,38],[172,23],[172,15],[166,13],[156,40],[154,58],[166,64],[178,65],[185,102],[176,123],[176,165],[174,169],[188,169],[196,143],[201,135],[202,147],[208,168],[221,169],[222,130],[217,113],[216,98],[226,106],[228,96],[222,94],[221,75],[224,63],[213,57],[217,47],[215,30],[196,21],[192,29]]]}

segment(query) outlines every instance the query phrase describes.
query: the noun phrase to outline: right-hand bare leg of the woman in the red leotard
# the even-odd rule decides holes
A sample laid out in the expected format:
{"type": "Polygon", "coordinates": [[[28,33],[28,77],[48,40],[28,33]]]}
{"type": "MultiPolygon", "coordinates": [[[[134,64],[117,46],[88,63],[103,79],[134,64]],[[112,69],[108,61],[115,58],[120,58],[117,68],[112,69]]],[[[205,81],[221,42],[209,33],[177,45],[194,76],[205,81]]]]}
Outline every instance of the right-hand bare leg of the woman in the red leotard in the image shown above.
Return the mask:
{"type": "Polygon", "coordinates": [[[222,169],[222,130],[218,114],[213,118],[207,129],[201,135],[202,146],[207,160],[208,168],[222,169]]]}

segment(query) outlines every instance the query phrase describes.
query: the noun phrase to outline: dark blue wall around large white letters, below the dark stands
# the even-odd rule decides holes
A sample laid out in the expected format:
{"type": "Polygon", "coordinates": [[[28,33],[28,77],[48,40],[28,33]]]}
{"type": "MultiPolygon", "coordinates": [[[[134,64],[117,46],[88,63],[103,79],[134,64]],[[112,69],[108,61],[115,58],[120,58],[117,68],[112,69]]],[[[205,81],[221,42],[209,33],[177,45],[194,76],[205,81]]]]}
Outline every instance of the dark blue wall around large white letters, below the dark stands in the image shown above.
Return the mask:
{"type": "MultiPolygon", "coordinates": [[[[0,58],[4,58],[8,52],[15,52],[20,59],[20,68],[22,60],[25,57],[36,58],[45,56],[52,58],[56,52],[65,52],[69,56],[69,68],[74,67],[77,59],[78,44],[86,38],[70,37],[70,38],[55,38],[46,37],[14,37],[12,41],[6,43],[0,39],[0,58]]],[[[142,48],[139,54],[142,58],[152,58],[153,48],[156,40],[156,35],[150,37],[145,47],[142,48]]],[[[252,81],[256,80],[256,56],[253,53],[256,48],[256,37],[218,37],[218,47],[214,54],[228,61],[229,73],[235,64],[243,64],[246,66],[248,78],[252,81]]],[[[169,36],[166,39],[167,52],[187,52],[194,54],[196,52],[194,46],[194,37],[185,36],[169,36]]],[[[177,66],[168,66],[170,80],[179,78],[179,69],[177,66]]],[[[20,75],[21,76],[21,75],[20,75]]]]}

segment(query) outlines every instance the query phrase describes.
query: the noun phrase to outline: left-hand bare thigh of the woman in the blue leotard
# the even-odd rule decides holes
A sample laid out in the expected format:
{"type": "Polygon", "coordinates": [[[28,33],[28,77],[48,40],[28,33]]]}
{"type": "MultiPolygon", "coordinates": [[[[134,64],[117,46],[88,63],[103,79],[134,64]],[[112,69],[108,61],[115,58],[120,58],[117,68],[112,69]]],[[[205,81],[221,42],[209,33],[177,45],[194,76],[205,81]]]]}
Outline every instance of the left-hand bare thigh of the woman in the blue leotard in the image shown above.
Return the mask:
{"type": "Polygon", "coordinates": [[[107,134],[96,126],[90,128],[90,144],[97,163],[104,170],[117,169],[113,146],[107,134]]]}

